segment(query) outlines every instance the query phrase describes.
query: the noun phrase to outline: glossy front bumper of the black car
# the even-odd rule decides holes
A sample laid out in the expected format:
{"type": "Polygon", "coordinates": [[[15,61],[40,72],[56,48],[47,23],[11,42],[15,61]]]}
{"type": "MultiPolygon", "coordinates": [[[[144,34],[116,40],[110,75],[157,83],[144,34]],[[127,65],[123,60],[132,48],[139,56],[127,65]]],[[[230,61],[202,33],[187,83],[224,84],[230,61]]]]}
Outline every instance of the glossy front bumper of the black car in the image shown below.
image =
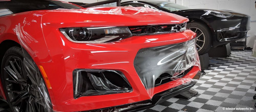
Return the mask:
{"type": "Polygon", "coordinates": [[[214,20],[208,18],[212,29],[214,29],[213,46],[225,45],[237,40],[249,37],[247,32],[250,28],[250,16],[234,14],[231,18],[215,17],[214,20]]]}

